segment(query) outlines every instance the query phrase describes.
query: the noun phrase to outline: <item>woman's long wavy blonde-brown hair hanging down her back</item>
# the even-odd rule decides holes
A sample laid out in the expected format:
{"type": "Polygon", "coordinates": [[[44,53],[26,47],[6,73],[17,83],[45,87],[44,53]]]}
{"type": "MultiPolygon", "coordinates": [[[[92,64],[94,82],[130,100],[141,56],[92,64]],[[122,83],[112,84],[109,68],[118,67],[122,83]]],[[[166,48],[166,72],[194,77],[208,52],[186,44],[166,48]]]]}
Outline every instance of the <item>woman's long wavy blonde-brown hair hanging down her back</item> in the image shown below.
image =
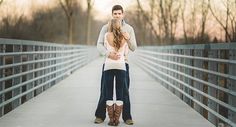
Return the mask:
{"type": "Polygon", "coordinates": [[[109,22],[109,32],[113,33],[114,36],[114,47],[116,51],[118,51],[121,47],[122,39],[124,38],[122,32],[121,32],[121,21],[118,19],[112,19],[109,22]]]}

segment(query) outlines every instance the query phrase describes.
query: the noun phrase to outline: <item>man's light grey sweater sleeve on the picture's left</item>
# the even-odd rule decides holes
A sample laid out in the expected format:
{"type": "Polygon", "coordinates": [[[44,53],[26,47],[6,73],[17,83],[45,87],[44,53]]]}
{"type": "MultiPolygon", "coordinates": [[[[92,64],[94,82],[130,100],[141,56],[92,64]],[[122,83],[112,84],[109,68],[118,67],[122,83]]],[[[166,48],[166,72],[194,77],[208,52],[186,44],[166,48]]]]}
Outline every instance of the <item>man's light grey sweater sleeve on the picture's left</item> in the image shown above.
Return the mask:
{"type": "Polygon", "coordinates": [[[107,27],[104,25],[99,33],[97,40],[97,49],[102,55],[108,55],[108,51],[104,46],[104,36],[107,31],[107,27]]]}

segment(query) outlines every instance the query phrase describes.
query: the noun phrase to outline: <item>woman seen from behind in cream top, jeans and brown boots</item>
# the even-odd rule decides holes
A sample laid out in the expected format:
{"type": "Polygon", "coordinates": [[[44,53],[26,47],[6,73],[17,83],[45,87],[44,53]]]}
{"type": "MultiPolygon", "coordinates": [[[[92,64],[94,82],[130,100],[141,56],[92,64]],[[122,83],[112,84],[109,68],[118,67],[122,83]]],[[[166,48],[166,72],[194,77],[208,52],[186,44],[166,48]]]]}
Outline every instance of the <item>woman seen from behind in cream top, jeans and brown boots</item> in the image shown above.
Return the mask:
{"type": "MultiPolygon", "coordinates": [[[[125,87],[125,56],[128,53],[128,44],[124,38],[128,33],[121,32],[121,21],[112,19],[109,22],[108,32],[105,34],[104,45],[110,53],[116,53],[118,60],[105,58],[104,78],[106,87],[106,105],[110,118],[108,125],[117,126],[123,109],[123,91],[125,87]],[[114,78],[116,84],[116,101],[113,101],[114,78]]],[[[108,55],[109,56],[109,55],[108,55]]]]}

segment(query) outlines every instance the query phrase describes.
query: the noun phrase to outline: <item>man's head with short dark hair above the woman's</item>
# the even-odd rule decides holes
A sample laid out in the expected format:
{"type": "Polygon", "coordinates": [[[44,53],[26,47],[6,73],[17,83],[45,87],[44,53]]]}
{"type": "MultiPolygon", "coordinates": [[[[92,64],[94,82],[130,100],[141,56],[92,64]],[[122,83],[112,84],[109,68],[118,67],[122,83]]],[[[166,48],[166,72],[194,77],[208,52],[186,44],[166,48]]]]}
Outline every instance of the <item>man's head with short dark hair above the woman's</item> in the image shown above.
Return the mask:
{"type": "Polygon", "coordinates": [[[112,7],[112,17],[119,20],[124,18],[124,10],[121,5],[114,5],[112,7]]]}

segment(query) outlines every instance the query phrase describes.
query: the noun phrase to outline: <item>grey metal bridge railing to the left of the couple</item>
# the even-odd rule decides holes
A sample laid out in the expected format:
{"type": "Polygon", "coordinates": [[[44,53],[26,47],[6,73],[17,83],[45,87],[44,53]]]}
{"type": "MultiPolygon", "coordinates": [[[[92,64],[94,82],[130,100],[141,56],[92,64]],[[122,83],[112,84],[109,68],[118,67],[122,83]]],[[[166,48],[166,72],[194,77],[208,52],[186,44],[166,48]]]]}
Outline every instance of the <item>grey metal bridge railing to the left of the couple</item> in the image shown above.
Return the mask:
{"type": "Polygon", "coordinates": [[[0,117],[90,62],[96,51],[83,45],[0,39],[0,117]]]}

